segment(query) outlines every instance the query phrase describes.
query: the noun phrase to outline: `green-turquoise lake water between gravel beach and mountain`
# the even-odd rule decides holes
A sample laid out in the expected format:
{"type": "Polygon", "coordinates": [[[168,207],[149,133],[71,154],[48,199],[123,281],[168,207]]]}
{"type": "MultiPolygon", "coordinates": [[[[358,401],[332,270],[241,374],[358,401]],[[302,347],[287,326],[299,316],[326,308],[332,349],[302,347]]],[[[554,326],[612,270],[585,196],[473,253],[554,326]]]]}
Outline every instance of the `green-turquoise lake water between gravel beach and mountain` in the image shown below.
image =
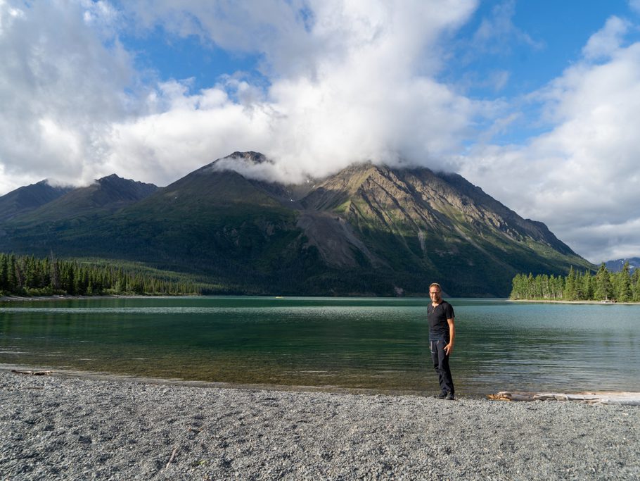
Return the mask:
{"type": "MultiPolygon", "coordinates": [[[[640,306],[450,299],[456,392],[640,391],[640,306]]],[[[0,303],[0,364],[237,384],[435,392],[428,299],[0,303]]]]}

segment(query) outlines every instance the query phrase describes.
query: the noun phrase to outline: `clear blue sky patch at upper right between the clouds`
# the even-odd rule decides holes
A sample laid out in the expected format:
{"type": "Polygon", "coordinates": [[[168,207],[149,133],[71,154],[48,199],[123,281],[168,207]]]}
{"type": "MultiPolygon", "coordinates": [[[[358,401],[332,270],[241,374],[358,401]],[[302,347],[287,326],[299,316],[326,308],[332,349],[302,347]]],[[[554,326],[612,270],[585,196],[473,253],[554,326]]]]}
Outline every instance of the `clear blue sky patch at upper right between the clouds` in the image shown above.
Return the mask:
{"type": "MultiPolygon", "coordinates": [[[[526,142],[528,137],[552,126],[538,125],[539,104],[523,97],[542,89],[576,63],[587,39],[612,15],[638,19],[629,2],[624,0],[481,2],[471,21],[458,32],[461,51],[448,63],[449,77],[445,78],[454,83],[471,78],[475,83],[468,87],[467,94],[474,99],[519,102],[520,108],[529,115],[494,142],[526,142]],[[482,25],[490,25],[488,30],[494,32],[494,36],[465,56],[463,51],[474,49],[482,25]],[[482,82],[482,79],[500,78],[500,73],[506,77],[504,86],[482,82]]],[[[625,41],[637,41],[639,34],[636,28],[628,33],[625,41]]]]}

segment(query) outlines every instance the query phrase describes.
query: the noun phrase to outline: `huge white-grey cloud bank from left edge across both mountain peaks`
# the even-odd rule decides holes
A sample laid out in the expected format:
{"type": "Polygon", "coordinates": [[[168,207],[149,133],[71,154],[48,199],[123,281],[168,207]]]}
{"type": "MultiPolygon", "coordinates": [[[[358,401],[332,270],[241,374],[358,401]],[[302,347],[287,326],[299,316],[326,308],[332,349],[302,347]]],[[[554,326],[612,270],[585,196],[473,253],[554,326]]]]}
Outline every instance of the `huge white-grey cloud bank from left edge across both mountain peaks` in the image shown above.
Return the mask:
{"type": "Polygon", "coordinates": [[[0,126],[15,139],[0,142],[0,163],[11,175],[166,185],[237,150],[264,152],[290,180],[364,160],[444,167],[482,107],[435,80],[442,38],[475,0],[11,5],[0,6],[0,126]],[[188,80],[143,85],[118,42],[129,27],[258,56],[267,86],[242,73],[200,92],[188,80]]]}

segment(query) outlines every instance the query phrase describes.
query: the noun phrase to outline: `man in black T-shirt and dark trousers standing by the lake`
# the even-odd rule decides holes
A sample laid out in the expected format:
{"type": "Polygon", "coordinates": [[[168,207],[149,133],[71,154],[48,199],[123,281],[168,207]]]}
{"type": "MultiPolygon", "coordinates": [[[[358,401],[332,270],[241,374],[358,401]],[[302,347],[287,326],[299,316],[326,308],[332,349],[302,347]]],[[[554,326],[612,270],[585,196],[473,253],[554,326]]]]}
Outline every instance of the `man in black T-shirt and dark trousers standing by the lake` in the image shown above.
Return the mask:
{"type": "Polygon", "coordinates": [[[454,308],[442,299],[440,284],[433,283],[429,286],[430,304],[427,306],[427,318],[429,320],[429,347],[433,368],[440,382],[440,394],[437,399],[449,399],[453,401],[454,381],[449,369],[449,356],[454,350],[456,328],[454,326],[454,308]]]}

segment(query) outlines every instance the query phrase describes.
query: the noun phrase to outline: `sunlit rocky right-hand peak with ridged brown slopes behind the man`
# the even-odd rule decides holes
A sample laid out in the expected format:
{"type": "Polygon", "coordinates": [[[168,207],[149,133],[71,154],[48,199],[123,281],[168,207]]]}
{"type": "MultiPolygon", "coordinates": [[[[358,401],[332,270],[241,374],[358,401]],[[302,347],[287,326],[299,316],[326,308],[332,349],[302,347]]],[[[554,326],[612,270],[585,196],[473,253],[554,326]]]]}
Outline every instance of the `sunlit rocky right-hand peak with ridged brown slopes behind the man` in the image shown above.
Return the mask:
{"type": "MultiPolygon", "coordinates": [[[[504,295],[517,272],[558,273],[588,264],[544,224],[521,218],[460,175],[356,165],[322,182],[302,204],[307,211],[301,218],[330,213],[333,232],[349,230],[364,245],[347,240],[347,264],[389,268],[405,290],[426,292],[437,278],[458,295],[504,295]]],[[[311,242],[335,261],[335,242],[322,242],[331,237],[314,236],[319,223],[310,225],[311,242]]]]}

